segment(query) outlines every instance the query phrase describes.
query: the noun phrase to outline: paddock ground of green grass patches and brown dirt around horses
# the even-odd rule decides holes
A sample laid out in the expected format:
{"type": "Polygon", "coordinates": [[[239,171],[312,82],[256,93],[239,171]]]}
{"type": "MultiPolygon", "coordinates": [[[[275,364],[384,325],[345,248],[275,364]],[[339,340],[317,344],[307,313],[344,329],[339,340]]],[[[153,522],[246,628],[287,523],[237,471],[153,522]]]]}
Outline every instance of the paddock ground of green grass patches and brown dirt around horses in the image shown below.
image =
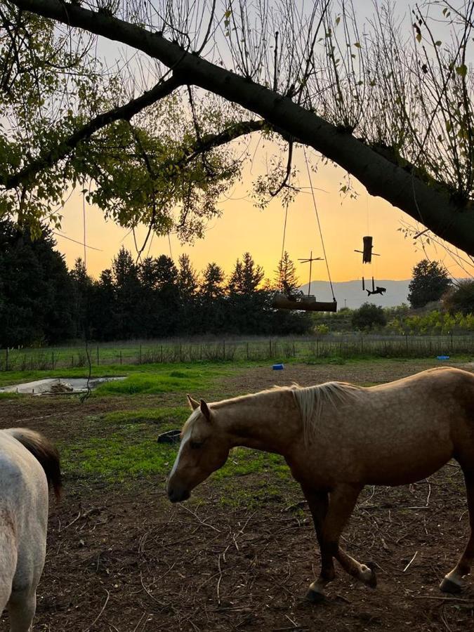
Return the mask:
{"type": "MultiPolygon", "coordinates": [[[[100,366],[94,375],[126,379],[103,384],[82,403],[76,395],[1,398],[0,427],[36,428],[62,454],[65,496],[51,505],[34,629],[470,629],[473,586],[458,600],[437,591],[467,536],[465,493],[454,466],[410,487],[364,491],[344,541],[356,558],[376,562],[379,586],[368,591],[338,571],[321,607],[301,599],[317,574],[315,535],[301,490],[279,456],[234,449],[187,503],[167,501],[166,475],[178,447],[156,439],[183,425],[186,393],[215,401],[293,381],[370,386],[439,365],[329,360],[289,363],[284,371],[245,360],[123,364],[121,371],[100,366]]],[[[462,358],[457,365],[470,368],[462,358]]],[[[66,373],[84,374],[84,367],[66,373]]],[[[0,378],[38,375],[44,371],[0,378]]]]}

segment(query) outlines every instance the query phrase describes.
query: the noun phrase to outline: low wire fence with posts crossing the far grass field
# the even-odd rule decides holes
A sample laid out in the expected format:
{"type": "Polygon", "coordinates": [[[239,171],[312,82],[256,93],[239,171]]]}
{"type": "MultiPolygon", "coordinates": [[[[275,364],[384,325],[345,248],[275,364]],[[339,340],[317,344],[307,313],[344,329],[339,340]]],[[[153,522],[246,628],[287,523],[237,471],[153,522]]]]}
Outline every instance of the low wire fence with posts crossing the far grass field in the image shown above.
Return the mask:
{"type": "Polygon", "coordinates": [[[51,369],[124,364],[179,362],[239,362],[357,357],[437,357],[471,355],[474,335],[383,336],[327,335],[311,338],[228,339],[221,341],[145,341],[55,348],[0,350],[0,371],[51,369]]]}

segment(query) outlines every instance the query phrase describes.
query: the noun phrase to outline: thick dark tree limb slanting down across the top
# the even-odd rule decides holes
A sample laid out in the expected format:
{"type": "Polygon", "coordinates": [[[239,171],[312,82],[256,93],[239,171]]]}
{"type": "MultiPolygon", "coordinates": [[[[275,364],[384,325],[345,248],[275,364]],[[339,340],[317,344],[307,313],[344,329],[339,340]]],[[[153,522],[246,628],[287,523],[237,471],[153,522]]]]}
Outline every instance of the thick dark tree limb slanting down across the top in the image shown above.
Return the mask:
{"type": "Polygon", "coordinates": [[[13,0],[13,4],[46,18],[86,29],[133,46],[164,65],[186,84],[194,84],[256,112],[298,142],[314,147],[346,169],[371,195],[420,221],[435,235],[474,254],[474,211],[456,204],[447,191],[430,186],[403,166],[390,162],[351,133],[341,131],[316,114],[250,79],[187,53],[158,33],[60,0],[13,0]]]}

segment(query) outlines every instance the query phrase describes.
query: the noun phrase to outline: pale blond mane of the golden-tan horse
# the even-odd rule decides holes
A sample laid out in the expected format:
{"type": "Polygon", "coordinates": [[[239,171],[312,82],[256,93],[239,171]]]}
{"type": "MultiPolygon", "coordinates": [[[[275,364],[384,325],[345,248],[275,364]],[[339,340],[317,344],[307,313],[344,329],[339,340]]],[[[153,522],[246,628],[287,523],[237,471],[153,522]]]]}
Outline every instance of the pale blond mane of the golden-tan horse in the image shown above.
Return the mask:
{"type": "Polygon", "coordinates": [[[290,389],[301,412],[303,437],[306,444],[310,442],[317,430],[324,407],[330,405],[336,409],[338,404],[350,402],[362,393],[362,387],[346,382],[325,382],[306,387],[294,384],[290,389]]]}

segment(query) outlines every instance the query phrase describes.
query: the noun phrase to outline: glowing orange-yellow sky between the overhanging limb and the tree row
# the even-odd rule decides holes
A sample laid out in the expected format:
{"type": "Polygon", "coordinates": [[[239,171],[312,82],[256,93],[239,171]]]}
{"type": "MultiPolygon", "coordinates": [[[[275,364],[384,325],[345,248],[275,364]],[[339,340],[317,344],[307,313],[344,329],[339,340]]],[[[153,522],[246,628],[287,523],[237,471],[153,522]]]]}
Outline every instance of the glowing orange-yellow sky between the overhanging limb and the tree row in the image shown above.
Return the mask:
{"type": "MultiPolygon", "coordinates": [[[[180,244],[176,236],[171,235],[171,254],[176,263],[178,256],[185,252],[197,270],[215,261],[229,273],[237,257],[249,251],[256,263],[263,266],[265,276],[275,277],[274,270],[282,250],[284,208],[282,202],[274,199],[261,211],[256,209],[249,195],[251,180],[265,169],[271,152],[270,146],[258,149],[252,164],[244,169],[244,183],[228,192],[229,199],[222,199],[220,209],[223,216],[209,223],[204,239],[193,245],[180,244]]],[[[301,148],[296,150],[294,161],[298,169],[298,185],[308,187],[301,148]]],[[[315,164],[314,154],[312,162],[315,164]]],[[[415,245],[413,239],[405,239],[402,232],[397,230],[401,227],[401,220],[412,220],[383,199],[370,197],[357,180],[353,183],[358,193],[357,199],[341,197],[339,190],[344,175],[342,169],[332,165],[319,166],[317,173],[311,174],[332,280],[348,281],[360,279],[362,275],[374,275],[376,279],[409,279],[413,265],[426,256],[421,244],[415,245]],[[363,235],[374,236],[374,252],[381,254],[380,257],[374,257],[372,266],[365,265],[364,270],[362,255],[354,252],[355,248],[361,248],[363,235]]],[[[82,242],[82,197],[79,193],[73,193],[70,197],[63,216],[62,233],[65,237],[82,242]]],[[[128,232],[112,221],[105,222],[100,209],[86,204],[86,244],[100,249],[87,249],[86,265],[90,275],[98,277],[101,270],[109,268],[121,244],[136,254],[133,236],[127,235],[128,232]]],[[[145,232],[143,227],[136,231],[139,245],[143,242],[145,232]]],[[[56,239],[58,250],[65,254],[69,267],[74,265],[77,257],[84,257],[84,247],[80,244],[74,244],[59,235],[56,239]]],[[[295,262],[298,258],[309,256],[310,251],[313,256],[322,256],[312,196],[308,189],[301,192],[289,206],[285,249],[295,262]]],[[[145,254],[147,251],[148,246],[145,254]]],[[[466,272],[459,268],[445,249],[431,246],[426,252],[430,258],[443,261],[454,277],[466,276],[466,272]]],[[[170,255],[168,237],[155,236],[152,241],[150,256],[160,254],[170,255]]],[[[298,265],[301,283],[308,282],[308,272],[307,264],[298,265]]],[[[324,262],[313,264],[312,278],[327,280],[324,262]]]]}

